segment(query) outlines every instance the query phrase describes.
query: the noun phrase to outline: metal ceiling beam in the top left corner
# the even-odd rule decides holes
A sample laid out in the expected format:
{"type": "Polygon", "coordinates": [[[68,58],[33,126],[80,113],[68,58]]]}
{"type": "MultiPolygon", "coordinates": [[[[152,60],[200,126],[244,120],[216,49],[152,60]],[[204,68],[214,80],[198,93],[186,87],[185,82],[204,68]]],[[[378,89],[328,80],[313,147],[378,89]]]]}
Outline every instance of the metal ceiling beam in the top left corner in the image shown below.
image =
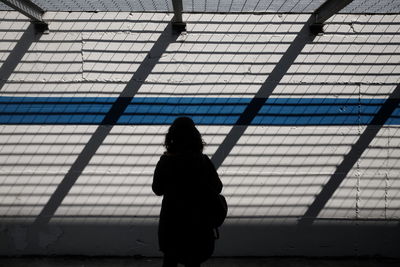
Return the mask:
{"type": "Polygon", "coordinates": [[[43,20],[44,10],[30,0],[0,0],[7,6],[24,14],[35,24],[35,28],[41,32],[48,30],[48,24],[43,20]]]}

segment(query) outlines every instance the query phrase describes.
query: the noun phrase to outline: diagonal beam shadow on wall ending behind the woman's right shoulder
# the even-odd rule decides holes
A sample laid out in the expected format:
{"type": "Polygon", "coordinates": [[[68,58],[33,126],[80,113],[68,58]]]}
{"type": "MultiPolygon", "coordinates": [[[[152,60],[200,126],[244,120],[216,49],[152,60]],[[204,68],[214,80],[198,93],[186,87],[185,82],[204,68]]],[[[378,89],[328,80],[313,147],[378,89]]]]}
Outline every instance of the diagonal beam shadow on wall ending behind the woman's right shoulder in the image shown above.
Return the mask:
{"type": "Polygon", "coordinates": [[[275,65],[274,69],[261,85],[261,88],[255,94],[254,98],[247,105],[235,125],[232,127],[230,132],[227,134],[217,151],[212,156],[212,162],[215,168],[219,168],[224,162],[226,157],[229,155],[233,147],[237,144],[240,137],[246,131],[247,127],[251,124],[253,119],[257,116],[260,109],[263,107],[265,102],[271,96],[272,92],[282,80],[283,76],[287,73],[290,66],[296,60],[297,56],[301,53],[304,46],[312,42],[315,35],[310,32],[310,25],[314,22],[314,16],[311,15],[303,28],[297,34],[292,44],[283,54],[279,62],[275,65]]]}

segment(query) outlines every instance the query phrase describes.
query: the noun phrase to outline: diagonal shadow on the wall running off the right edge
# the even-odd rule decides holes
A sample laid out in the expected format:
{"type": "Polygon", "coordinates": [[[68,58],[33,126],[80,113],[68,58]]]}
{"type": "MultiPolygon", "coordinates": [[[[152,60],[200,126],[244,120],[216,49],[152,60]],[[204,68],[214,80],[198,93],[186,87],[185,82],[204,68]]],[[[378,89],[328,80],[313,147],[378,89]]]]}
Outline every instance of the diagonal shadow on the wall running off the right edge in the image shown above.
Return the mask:
{"type": "Polygon", "coordinates": [[[393,111],[399,106],[400,103],[400,85],[398,85],[393,92],[383,103],[382,107],[375,114],[371,122],[365,128],[360,138],[352,146],[350,152],[344,157],[342,163],[336,168],[335,173],[331,176],[329,181],[322,188],[321,192],[315,197],[314,202],[310,205],[308,210],[300,218],[298,226],[310,226],[321,210],[325,207],[328,200],[339,188],[342,181],[347,177],[347,174],[353,168],[354,164],[360,159],[361,155],[368,148],[369,144],[376,137],[385,122],[390,118],[393,111]]]}

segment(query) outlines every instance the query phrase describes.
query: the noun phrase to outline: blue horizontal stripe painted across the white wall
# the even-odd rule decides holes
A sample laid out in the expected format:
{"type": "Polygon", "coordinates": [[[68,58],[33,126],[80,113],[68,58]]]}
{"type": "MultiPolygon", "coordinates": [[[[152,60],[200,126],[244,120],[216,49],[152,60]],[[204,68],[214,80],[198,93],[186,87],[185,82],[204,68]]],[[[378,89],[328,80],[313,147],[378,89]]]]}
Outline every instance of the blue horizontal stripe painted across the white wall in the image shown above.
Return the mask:
{"type": "MultiPolygon", "coordinates": [[[[117,98],[0,97],[0,124],[100,124],[117,98]]],[[[196,124],[233,125],[251,98],[137,97],[117,124],[171,124],[190,116],[196,124]]],[[[252,125],[368,124],[385,99],[270,98],[252,125]]],[[[397,108],[386,124],[400,124],[397,108]]]]}

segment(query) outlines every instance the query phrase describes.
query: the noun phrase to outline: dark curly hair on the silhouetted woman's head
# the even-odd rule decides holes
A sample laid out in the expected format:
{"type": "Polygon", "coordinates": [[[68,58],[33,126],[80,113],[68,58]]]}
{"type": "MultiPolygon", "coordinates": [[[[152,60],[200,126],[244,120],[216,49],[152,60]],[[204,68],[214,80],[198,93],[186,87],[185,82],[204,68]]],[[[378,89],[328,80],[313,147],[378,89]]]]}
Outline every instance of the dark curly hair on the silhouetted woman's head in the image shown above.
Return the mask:
{"type": "Polygon", "coordinates": [[[179,117],[168,129],[164,146],[168,153],[202,153],[204,142],[194,122],[189,117],[179,117]]]}

